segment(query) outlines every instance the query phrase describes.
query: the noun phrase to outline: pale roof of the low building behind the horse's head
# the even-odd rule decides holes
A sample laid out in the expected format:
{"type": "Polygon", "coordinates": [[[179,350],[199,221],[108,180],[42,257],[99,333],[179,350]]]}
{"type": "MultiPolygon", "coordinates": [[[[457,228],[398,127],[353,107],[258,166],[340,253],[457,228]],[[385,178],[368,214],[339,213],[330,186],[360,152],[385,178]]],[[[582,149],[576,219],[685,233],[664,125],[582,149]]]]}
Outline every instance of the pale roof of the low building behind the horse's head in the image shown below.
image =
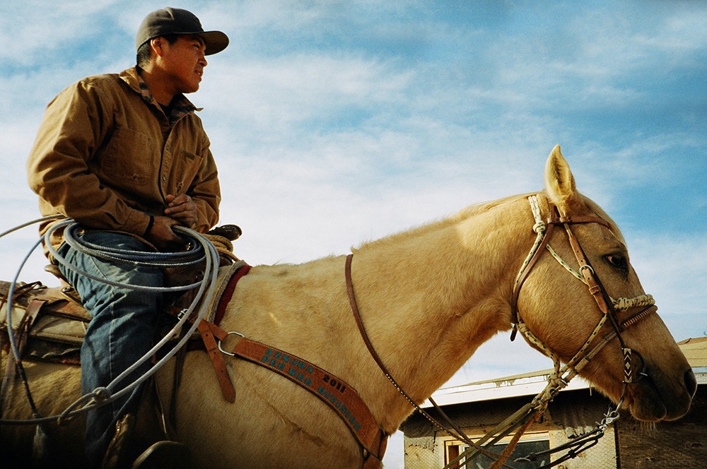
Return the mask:
{"type": "MultiPolygon", "coordinates": [[[[692,367],[698,384],[707,384],[707,337],[689,338],[677,344],[692,367]]],[[[432,398],[438,405],[452,405],[484,400],[503,399],[519,396],[534,396],[544,389],[547,378],[553,370],[545,369],[525,374],[515,374],[486,381],[475,381],[460,386],[440,388],[432,398]]],[[[580,376],[575,377],[562,391],[590,388],[590,384],[580,376]]],[[[431,407],[426,400],[421,407],[431,407]]]]}

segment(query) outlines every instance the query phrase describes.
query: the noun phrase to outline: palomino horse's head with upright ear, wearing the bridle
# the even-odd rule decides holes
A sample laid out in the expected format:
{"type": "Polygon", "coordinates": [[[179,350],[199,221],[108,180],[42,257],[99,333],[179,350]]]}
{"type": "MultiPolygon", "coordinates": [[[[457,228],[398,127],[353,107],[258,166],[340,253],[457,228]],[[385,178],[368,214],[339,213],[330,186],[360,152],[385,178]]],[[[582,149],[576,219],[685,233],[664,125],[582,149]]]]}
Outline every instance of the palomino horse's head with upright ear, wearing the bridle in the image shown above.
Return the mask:
{"type": "Polygon", "coordinates": [[[624,238],[596,203],[576,191],[559,147],[548,159],[545,179],[547,203],[540,198],[537,211],[551,249],[539,247],[544,254],[518,287],[518,315],[527,337],[537,338],[536,348],[576,365],[614,402],[623,398],[637,419],[682,417],[696,380],[655,314],[652,297],[645,295],[624,238]],[[628,379],[626,367],[633,374],[628,379]]]}

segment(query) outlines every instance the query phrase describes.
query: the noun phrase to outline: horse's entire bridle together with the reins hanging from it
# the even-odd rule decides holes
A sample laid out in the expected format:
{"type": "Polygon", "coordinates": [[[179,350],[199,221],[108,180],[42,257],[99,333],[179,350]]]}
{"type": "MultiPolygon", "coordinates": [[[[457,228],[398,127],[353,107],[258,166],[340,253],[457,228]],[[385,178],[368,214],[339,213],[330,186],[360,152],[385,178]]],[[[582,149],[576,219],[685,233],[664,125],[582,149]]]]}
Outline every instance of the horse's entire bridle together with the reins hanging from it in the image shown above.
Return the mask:
{"type": "MultiPolygon", "coordinates": [[[[467,451],[464,451],[454,460],[450,461],[448,465],[445,466],[445,468],[459,467],[459,464],[461,463],[462,459],[467,458],[467,461],[469,461],[469,458],[472,458],[478,453],[484,453],[487,456],[496,457],[496,462],[493,464],[492,468],[500,468],[510,456],[510,452],[513,451],[513,446],[518,443],[518,440],[520,439],[522,433],[525,432],[528,427],[530,427],[530,424],[532,424],[534,420],[536,420],[540,415],[542,415],[542,413],[544,413],[545,410],[547,410],[548,403],[553,400],[555,396],[557,396],[559,391],[561,391],[562,388],[565,388],[569,384],[569,381],[573,379],[574,376],[577,376],[580,371],[614,338],[619,339],[619,345],[621,345],[621,350],[624,354],[623,390],[621,391],[621,398],[619,398],[619,402],[617,403],[615,408],[609,407],[609,411],[606,415],[604,415],[604,420],[597,424],[597,428],[594,429],[592,432],[581,435],[580,437],[577,437],[568,444],[564,444],[558,446],[555,449],[551,449],[549,451],[544,452],[555,453],[558,451],[568,451],[565,455],[561,456],[560,458],[557,458],[549,465],[543,467],[550,467],[551,465],[556,465],[563,461],[566,461],[569,458],[574,458],[581,451],[584,451],[585,449],[594,446],[597,443],[598,439],[603,436],[604,431],[607,429],[607,427],[614,420],[619,418],[618,409],[621,406],[621,403],[623,403],[628,385],[640,380],[643,376],[646,376],[645,361],[638,352],[626,347],[626,343],[624,342],[624,338],[621,336],[621,333],[624,332],[627,328],[636,324],[638,321],[641,321],[641,319],[644,319],[646,316],[649,316],[650,314],[658,310],[658,307],[655,306],[653,297],[650,295],[639,295],[633,298],[612,299],[612,297],[610,297],[607,293],[607,290],[604,288],[604,285],[602,284],[601,280],[595,273],[594,268],[592,268],[589,260],[587,259],[587,256],[585,256],[584,254],[584,251],[578,239],[575,237],[571,229],[571,225],[586,223],[597,223],[599,225],[609,228],[609,230],[612,229],[612,226],[609,224],[609,222],[607,222],[607,220],[596,216],[571,217],[560,215],[559,210],[557,210],[554,205],[549,203],[549,201],[549,216],[546,220],[543,220],[542,213],[539,208],[538,196],[530,196],[528,197],[528,201],[530,202],[530,208],[535,219],[533,230],[537,233],[537,237],[525,261],[522,263],[520,271],[518,272],[518,275],[515,278],[515,283],[513,285],[513,295],[511,297],[510,303],[512,318],[511,322],[513,325],[511,340],[515,340],[516,334],[518,333],[518,331],[520,331],[523,334],[523,337],[531,345],[538,348],[539,350],[544,352],[545,355],[551,358],[554,363],[554,372],[549,375],[547,380],[547,386],[541,393],[535,396],[531,403],[527,403],[526,405],[524,405],[513,415],[510,415],[510,417],[498,424],[495,428],[491,429],[491,431],[486,433],[484,437],[481,437],[481,439],[477,441],[472,441],[471,439],[469,439],[464,434],[464,432],[462,432],[460,427],[455,425],[454,422],[450,420],[450,418],[445,414],[442,408],[440,408],[440,406],[432,398],[429,398],[428,400],[430,401],[430,403],[441,415],[443,420],[445,420],[448,426],[442,425],[440,422],[438,422],[438,420],[436,420],[428,412],[423,410],[412,398],[410,398],[410,396],[404,392],[402,387],[397,384],[397,381],[395,381],[395,379],[391,376],[390,372],[387,371],[385,364],[382,363],[382,360],[378,356],[378,353],[373,348],[373,344],[370,343],[368,334],[366,333],[366,329],[363,327],[363,321],[361,321],[361,316],[358,312],[354,289],[351,283],[352,255],[349,254],[349,256],[347,256],[346,258],[345,272],[346,285],[349,292],[349,302],[351,303],[351,309],[354,312],[356,324],[358,326],[359,331],[361,332],[361,336],[363,337],[364,342],[366,343],[366,347],[368,348],[370,355],[373,356],[373,359],[378,364],[378,367],[380,367],[382,372],[385,374],[387,379],[390,380],[393,386],[395,386],[397,391],[402,394],[402,396],[404,396],[404,398],[406,398],[408,402],[416,410],[418,410],[421,415],[423,415],[423,417],[426,417],[427,420],[429,420],[433,425],[435,425],[439,429],[442,429],[443,431],[448,432],[454,437],[469,444],[469,449],[467,449],[467,451]],[[563,227],[565,228],[568,240],[575,255],[575,259],[577,260],[579,265],[579,271],[575,271],[573,268],[571,268],[571,266],[569,266],[568,263],[563,261],[559,254],[557,254],[556,251],[554,251],[554,249],[552,249],[552,247],[550,247],[549,245],[551,234],[554,230],[554,227],[556,227],[557,225],[563,225],[563,227]],[[520,312],[518,310],[518,297],[520,296],[520,289],[523,283],[525,283],[525,280],[527,279],[528,275],[530,275],[532,268],[537,264],[537,261],[540,259],[540,257],[546,250],[549,251],[550,254],[554,257],[554,259],[556,259],[556,261],[558,261],[561,266],[563,266],[569,273],[574,275],[575,278],[578,278],[583,283],[585,283],[585,285],[588,286],[590,294],[595,299],[595,301],[597,302],[597,306],[602,312],[602,318],[597,323],[597,326],[594,328],[592,333],[590,333],[590,336],[587,338],[587,340],[585,340],[585,343],[575,353],[571,360],[569,360],[563,367],[561,366],[559,356],[556,354],[556,352],[550,350],[546,345],[544,345],[542,340],[540,340],[537,336],[535,336],[534,333],[532,333],[532,331],[530,331],[530,328],[527,327],[525,321],[523,321],[522,316],[520,315],[520,312]],[[638,307],[643,307],[643,309],[641,309],[641,311],[638,311],[638,313],[634,314],[633,316],[629,317],[629,319],[626,319],[624,321],[621,321],[621,319],[619,319],[617,311],[626,311],[638,307]],[[595,339],[597,338],[597,336],[599,336],[600,331],[602,330],[602,328],[604,328],[604,325],[607,323],[607,321],[612,326],[611,331],[606,333],[592,348],[590,348],[592,343],[595,343],[595,339]],[[640,369],[638,369],[638,371],[636,371],[633,367],[633,355],[636,355],[636,357],[638,357],[638,360],[640,360],[641,362],[641,367],[640,369]],[[508,436],[515,430],[517,431],[515,432],[513,439],[511,439],[511,443],[508,444],[506,450],[503,451],[503,454],[498,455],[496,453],[491,453],[491,451],[487,449],[489,446],[496,444],[498,441],[508,436]]],[[[532,461],[537,456],[542,456],[542,454],[530,454],[526,458],[521,459],[524,461],[532,461]]]]}

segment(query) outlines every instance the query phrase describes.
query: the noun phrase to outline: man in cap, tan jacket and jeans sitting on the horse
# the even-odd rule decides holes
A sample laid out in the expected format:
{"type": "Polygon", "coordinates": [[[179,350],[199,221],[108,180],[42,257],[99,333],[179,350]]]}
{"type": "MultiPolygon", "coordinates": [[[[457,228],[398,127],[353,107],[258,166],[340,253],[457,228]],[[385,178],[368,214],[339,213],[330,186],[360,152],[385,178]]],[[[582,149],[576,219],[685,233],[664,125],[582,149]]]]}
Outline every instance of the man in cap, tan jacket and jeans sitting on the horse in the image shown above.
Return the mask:
{"type": "MultiPolygon", "coordinates": [[[[42,214],[73,218],[85,228],[83,242],[113,249],[180,249],[174,225],[208,232],[218,220],[218,172],[195,114],[199,109],[185,93],[199,89],[205,56],[227,45],[223,32],[205,32],[189,11],[163,8],[139,27],[136,66],[84,78],[59,93],[47,107],[28,160],[29,184],[42,214]]],[[[54,222],[45,222],[42,233],[54,222]]],[[[70,264],[59,264],[59,271],[93,318],[81,349],[81,388],[88,393],[150,350],[164,294],[129,285],[161,287],[163,272],[96,259],[69,246],[61,232],[51,243],[70,264]]],[[[143,364],[124,381],[149,367],[143,364]]],[[[119,449],[116,427],[127,425],[140,395],[138,387],[88,412],[86,456],[92,467],[126,463],[107,450],[112,440],[111,447],[119,449]]],[[[165,454],[187,463],[183,447],[172,442],[158,442],[142,459],[165,454]]]]}

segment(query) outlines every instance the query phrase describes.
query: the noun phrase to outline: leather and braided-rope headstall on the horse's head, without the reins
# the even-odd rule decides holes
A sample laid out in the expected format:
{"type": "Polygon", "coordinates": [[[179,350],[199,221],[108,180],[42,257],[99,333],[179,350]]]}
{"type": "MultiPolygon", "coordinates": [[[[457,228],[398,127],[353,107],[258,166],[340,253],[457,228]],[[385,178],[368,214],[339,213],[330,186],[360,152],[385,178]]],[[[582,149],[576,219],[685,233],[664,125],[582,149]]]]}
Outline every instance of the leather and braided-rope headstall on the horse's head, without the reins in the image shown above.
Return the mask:
{"type": "Polygon", "coordinates": [[[559,385],[558,388],[554,390],[554,393],[557,393],[560,388],[567,385],[570,379],[579,374],[581,369],[583,369],[586,364],[588,364],[590,360],[592,360],[592,358],[594,358],[600,350],[607,345],[607,343],[614,338],[618,338],[619,344],[621,345],[621,351],[624,354],[624,391],[621,393],[620,399],[623,400],[624,394],[626,393],[626,385],[636,382],[645,376],[645,362],[643,357],[641,357],[638,352],[626,347],[626,343],[624,343],[624,338],[621,336],[621,333],[636,324],[638,321],[641,321],[641,319],[657,311],[658,307],[655,306],[653,297],[650,295],[612,299],[612,297],[610,297],[607,293],[606,288],[604,288],[600,278],[597,276],[594,268],[592,268],[592,265],[587,259],[587,256],[585,256],[578,239],[572,232],[571,225],[598,223],[599,225],[612,230],[612,226],[609,225],[607,220],[594,216],[562,216],[559,214],[559,210],[557,210],[554,205],[549,203],[549,201],[549,218],[547,218],[547,220],[542,220],[537,196],[530,196],[528,201],[530,201],[530,208],[535,218],[533,230],[537,233],[537,238],[532,249],[530,250],[530,253],[525,259],[525,262],[522,264],[520,271],[515,278],[515,284],[513,285],[513,296],[511,298],[511,321],[513,323],[513,333],[511,333],[510,340],[514,340],[516,333],[520,331],[532,345],[535,345],[552,359],[555,367],[553,378],[557,380],[559,385]],[[550,235],[553,232],[554,227],[557,225],[563,225],[565,228],[568,241],[579,265],[579,271],[575,271],[571,268],[549,245],[550,235]],[[590,294],[595,299],[595,302],[597,302],[597,306],[600,311],[602,311],[602,318],[599,323],[597,323],[597,326],[594,328],[587,340],[585,340],[584,345],[582,345],[571,360],[569,360],[562,368],[560,367],[558,355],[554,351],[547,348],[547,346],[542,343],[542,340],[537,338],[537,336],[530,331],[518,311],[518,296],[520,295],[520,288],[527,279],[527,276],[530,275],[532,268],[535,266],[540,256],[542,256],[542,253],[546,250],[549,251],[556,261],[558,261],[568,272],[587,285],[590,294]],[[626,311],[628,309],[638,307],[644,308],[629,317],[629,319],[624,321],[619,319],[617,311],[626,311]],[[606,333],[604,337],[590,349],[590,345],[595,342],[595,338],[597,338],[607,321],[611,324],[612,330],[606,333]],[[636,355],[638,360],[641,362],[641,367],[638,371],[634,370],[633,367],[633,355],[636,355]]]}

